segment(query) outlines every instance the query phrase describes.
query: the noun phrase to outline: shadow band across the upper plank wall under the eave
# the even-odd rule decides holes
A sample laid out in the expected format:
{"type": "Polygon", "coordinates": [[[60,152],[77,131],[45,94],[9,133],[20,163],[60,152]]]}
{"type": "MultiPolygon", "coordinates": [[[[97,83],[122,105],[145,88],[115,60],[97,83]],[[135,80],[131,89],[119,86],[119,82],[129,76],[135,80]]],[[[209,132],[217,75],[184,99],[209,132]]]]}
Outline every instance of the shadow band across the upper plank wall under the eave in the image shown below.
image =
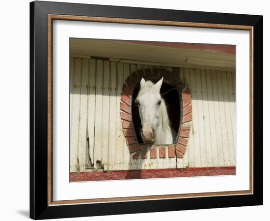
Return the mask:
{"type": "MultiPolygon", "coordinates": [[[[131,64],[128,65],[130,70],[131,64]]],[[[110,96],[111,91],[117,89],[119,80],[121,85],[126,80],[123,75],[123,63],[115,63],[113,71],[109,61],[90,62],[89,59],[71,58],[70,70],[70,94],[110,96]],[[94,68],[91,68],[91,65],[94,68]],[[123,75],[123,78],[119,78],[119,75],[123,75]],[[114,82],[111,79],[115,79],[114,82]]],[[[187,72],[184,72],[184,79],[189,85],[191,95],[196,95],[193,99],[235,102],[235,72],[194,68],[185,70],[187,72]]]]}

